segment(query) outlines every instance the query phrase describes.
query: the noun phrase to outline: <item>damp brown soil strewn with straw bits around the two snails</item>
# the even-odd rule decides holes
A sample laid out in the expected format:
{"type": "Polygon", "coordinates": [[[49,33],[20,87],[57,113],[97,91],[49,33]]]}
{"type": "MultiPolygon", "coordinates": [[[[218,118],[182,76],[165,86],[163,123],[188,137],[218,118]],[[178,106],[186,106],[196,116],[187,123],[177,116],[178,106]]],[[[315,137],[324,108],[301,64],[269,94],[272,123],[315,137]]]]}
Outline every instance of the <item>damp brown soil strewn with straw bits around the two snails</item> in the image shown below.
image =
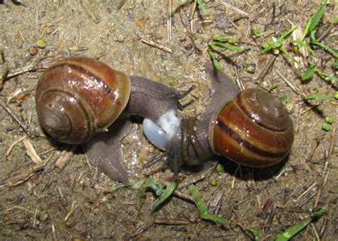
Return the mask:
{"type": "MultiPolygon", "coordinates": [[[[272,240],[317,209],[325,214],[294,240],[312,240],[316,235],[323,240],[337,238],[338,158],[337,140],[332,139],[337,135],[332,131],[337,125],[337,101],[304,103],[277,71],[307,95],[334,95],[337,85],[318,76],[303,82],[300,76],[307,67],[295,68],[295,63],[282,54],[264,79],[257,80],[272,57],[271,53],[260,54],[262,42],[280,36],[291,24],[304,28],[319,9],[319,1],[226,1],[247,15],[227,8],[222,1],[203,2],[207,10],[197,10],[189,21],[193,1],[173,1],[168,34],[170,1],[0,1],[0,50],[9,73],[46,56],[88,56],[178,91],[195,85],[181,101],[189,103],[179,113],[186,117],[200,116],[208,103],[210,83],[203,67],[211,62],[208,42],[215,35],[234,36],[249,50],[235,56],[233,51],[221,50],[216,53],[220,65],[246,88],[278,85],[272,93],[285,103],[295,126],[295,143],[288,158],[263,169],[240,167],[217,158],[224,172],[214,170],[195,183],[208,203],[208,212],[227,218],[230,225],[201,220],[193,202],[176,196],[152,210],[156,196],[151,191],[145,193],[137,210],[137,187],[109,192],[118,182],[101,173],[95,178],[95,168],[81,148],[71,150],[63,169],[54,168],[64,155],[62,151],[70,147],[46,137],[39,126],[34,92],[42,72],[21,73],[4,81],[0,97],[31,132],[41,134],[25,140],[44,165],[30,171],[34,160],[22,141],[26,133],[0,108],[1,240],[250,240],[245,227],[258,230],[262,240],[272,240]],[[37,47],[39,39],[46,43],[45,48],[37,47]],[[159,43],[172,53],[142,40],[159,43]],[[255,67],[255,71],[249,73],[247,66],[255,67]],[[309,108],[313,104],[319,105],[309,108]],[[331,131],[322,130],[324,116],[335,117],[331,131]],[[9,149],[11,153],[6,155],[9,149]],[[21,174],[19,180],[14,180],[15,172],[21,174]]],[[[317,34],[333,26],[322,43],[337,49],[337,25],[330,24],[335,15],[337,2],[331,1],[317,34]]],[[[320,71],[334,73],[334,58],[320,48],[315,51],[317,55],[308,60],[317,63],[320,71]]],[[[172,179],[172,171],[163,168],[164,161],[143,168],[160,151],[148,143],[139,123],[133,124],[122,145],[130,180],[149,176],[163,182],[172,179]]],[[[185,170],[180,180],[198,175],[185,170]]],[[[182,192],[190,195],[187,188],[182,192]]]]}

